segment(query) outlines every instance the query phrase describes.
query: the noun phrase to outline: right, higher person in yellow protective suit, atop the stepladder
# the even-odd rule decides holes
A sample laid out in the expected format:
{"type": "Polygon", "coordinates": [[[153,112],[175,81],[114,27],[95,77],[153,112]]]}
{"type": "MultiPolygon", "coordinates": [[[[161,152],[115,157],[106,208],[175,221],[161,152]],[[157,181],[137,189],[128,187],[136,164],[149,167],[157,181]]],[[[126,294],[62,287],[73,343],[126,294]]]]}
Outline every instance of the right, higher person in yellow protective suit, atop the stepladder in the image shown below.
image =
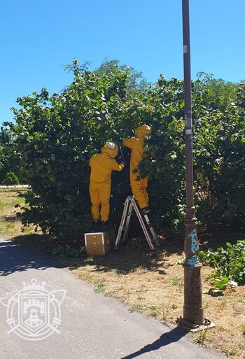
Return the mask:
{"type": "Polygon", "coordinates": [[[141,178],[137,181],[139,174],[139,163],[146,157],[146,148],[144,148],[144,141],[147,136],[151,134],[151,127],[148,125],[142,125],[135,131],[135,137],[131,139],[125,139],[123,145],[131,149],[130,158],[130,183],[134,197],[144,213],[148,213],[149,209],[149,197],[147,193],[148,176],[141,178]],[[135,172],[135,173],[134,173],[135,172]]]}

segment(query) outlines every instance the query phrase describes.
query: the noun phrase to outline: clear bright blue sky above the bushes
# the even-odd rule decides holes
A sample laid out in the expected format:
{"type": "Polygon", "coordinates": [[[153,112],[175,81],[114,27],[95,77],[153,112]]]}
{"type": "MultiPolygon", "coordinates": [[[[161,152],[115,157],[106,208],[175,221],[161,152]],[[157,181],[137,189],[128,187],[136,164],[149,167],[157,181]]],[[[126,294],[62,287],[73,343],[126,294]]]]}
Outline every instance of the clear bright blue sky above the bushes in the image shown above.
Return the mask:
{"type": "MultiPolygon", "coordinates": [[[[245,1],[189,0],[192,77],[244,80],[245,1]]],[[[181,0],[1,1],[0,124],[13,120],[17,97],[72,80],[63,64],[91,69],[118,59],[147,80],[183,78],[181,0]]]]}

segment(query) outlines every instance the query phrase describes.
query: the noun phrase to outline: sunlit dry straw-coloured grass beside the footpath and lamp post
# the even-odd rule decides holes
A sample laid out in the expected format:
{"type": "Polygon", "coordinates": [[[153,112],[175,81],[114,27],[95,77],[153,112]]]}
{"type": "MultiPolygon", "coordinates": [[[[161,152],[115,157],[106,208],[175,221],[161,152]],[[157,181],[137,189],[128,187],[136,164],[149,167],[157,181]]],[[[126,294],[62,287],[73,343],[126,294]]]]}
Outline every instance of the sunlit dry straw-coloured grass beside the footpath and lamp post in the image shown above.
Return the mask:
{"type": "MultiPolygon", "coordinates": [[[[20,202],[16,191],[1,190],[0,234],[7,238],[23,235],[14,208],[20,202]]],[[[46,253],[52,246],[43,236],[22,236],[21,244],[46,253]]],[[[127,246],[105,257],[86,257],[83,253],[79,259],[61,260],[75,267],[76,275],[94,286],[95,291],[116,297],[131,311],[175,323],[183,315],[183,267],[177,264],[183,256],[182,248],[182,239],[169,238],[160,250],[152,253],[144,239],[132,239],[127,246]]],[[[211,272],[210,267],[202,267],[203,291],[210,288],[207,276],[211,272]]],[[[234,359],[245,358],[245,287],[228,288],[221,297],[204,294],[203,307],[205,318],[215,323],[216,328],[206,334],[194,334],[195,343],[213,347],[234,359]]]]}

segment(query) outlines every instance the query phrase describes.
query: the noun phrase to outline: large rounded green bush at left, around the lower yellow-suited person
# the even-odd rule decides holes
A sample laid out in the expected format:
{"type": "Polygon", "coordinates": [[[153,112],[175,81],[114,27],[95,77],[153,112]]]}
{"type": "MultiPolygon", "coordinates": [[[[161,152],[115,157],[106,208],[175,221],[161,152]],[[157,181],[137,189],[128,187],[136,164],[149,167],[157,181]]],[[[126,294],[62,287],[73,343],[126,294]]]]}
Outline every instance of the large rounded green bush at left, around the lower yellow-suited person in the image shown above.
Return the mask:
{"type": "MultiPolygon", "coordinates": [[[[117,64],[90,71],[73,62],[74,80],[62,94],[41,94],[18,99],[13,125],[22,165],[31,185],[25,195],[23,223],[39,225],[55,236],[83,231],[90,213],[88,162],[106,141],[122,143],[133,134],[147,113],[137,97],[134,77],[117,64]],[[113,70],[113,71],[112,71],[113,70]]],[[[112,176],[111,219],[119,218],[129,193],[127,171],[112,176]]]]}

